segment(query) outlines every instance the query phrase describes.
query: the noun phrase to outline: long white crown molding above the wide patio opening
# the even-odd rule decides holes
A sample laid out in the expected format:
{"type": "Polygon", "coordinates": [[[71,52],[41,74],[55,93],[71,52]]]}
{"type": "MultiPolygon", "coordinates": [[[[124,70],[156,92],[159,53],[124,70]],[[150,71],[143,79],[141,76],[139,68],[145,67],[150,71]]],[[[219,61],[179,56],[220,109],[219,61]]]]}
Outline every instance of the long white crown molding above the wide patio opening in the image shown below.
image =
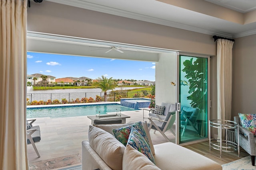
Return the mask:
{"type": "Polygon", "coordinates": [[[115,15],[115,16],[121,16],[121,17],[130,18],[130,19],[134,19],[134,20],[146,21],[146,22],[150,22],[150,23],[156,23],[159,25],[165,25],[165,26],[169,26],[169,27],[185,29],[188,31],[194,31],[194,32],[198,32],[198,33],[208,34],[208,35],[219,35],[219,36],[232,38],[232,35],[228,34],[228,33],[223,33],[223,32],[209,30],[209,29],[203,29],[200,27],[195,27],[195,26],[177,23],[177,22],[173,22],[173,21],[163,20],[160,18],[152,17],[152,16],[146,16],[146,15],[142,15],[142,14],[119,10],[116,8],[110,8],[107,6],[101,6],[98,4],[91,3],[91,2],[84,2],[82,0],[72,0],[72,1],[71,0],[46,0],[46,1],[69,5],[69,6],[74,6],[74,7],[78,7],[78,8],[84,8],[87,10],[102,12],[102,13],[111,14],[111,15],[115,15]]]}

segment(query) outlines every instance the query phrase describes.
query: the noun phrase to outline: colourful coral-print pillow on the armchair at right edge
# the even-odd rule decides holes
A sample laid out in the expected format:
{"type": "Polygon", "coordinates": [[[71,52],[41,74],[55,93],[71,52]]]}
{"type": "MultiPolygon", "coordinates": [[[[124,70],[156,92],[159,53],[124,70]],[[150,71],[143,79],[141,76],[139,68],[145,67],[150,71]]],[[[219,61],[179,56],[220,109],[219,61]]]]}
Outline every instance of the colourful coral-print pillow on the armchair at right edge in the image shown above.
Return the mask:
{"type": "Polygon", "coordinates": [[[248,131],[252,132],[254,134],[254,137],[256,136],[256,114],[242,114],[238,113],[242,127],[248,129],[248,131]]]}

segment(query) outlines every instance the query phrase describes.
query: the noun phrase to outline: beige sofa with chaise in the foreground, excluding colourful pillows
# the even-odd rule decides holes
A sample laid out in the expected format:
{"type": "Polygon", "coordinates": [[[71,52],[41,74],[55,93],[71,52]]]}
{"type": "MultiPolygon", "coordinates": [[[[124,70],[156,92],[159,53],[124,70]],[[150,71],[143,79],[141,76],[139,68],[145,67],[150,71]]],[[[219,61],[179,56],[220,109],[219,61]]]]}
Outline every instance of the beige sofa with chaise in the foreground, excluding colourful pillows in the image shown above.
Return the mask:
{"type": "Polygon", "coordinates": [[[142,123],[156,164],[144,154],[120,143],[112,129],[128,124],[90,126],[82,141],[82,170],[222,170],[218,163],[174,143],[153,145],[146,122],[142,123]]]}

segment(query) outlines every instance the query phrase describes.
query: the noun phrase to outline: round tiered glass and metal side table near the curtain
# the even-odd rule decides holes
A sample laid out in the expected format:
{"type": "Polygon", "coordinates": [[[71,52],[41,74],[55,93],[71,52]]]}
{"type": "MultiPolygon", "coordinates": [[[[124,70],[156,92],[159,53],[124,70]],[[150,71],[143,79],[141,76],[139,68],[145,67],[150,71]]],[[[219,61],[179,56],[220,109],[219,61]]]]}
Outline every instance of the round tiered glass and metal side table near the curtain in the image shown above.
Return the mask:
{"type": "Polygon", "coordinates": [[[228,140],[228,130],[234,129],[237,130],[237,133],[239,134],[239,126],[236,122],[230,121],[230,120],[209,120],[209,147],[220,150],[220,157],[222,157],[222,151],[223,152],[234,152],[238,151],[238,156],[240,154],[239,150],[239,137],[237,143],[235,141],[229,141],[228,140]],[[211,139],[211,128],[218,128],[218,133],[220,133],[220,139],[211,139]],[[225,139],[222,139],[222,130],[225,130],[225,139]]]}

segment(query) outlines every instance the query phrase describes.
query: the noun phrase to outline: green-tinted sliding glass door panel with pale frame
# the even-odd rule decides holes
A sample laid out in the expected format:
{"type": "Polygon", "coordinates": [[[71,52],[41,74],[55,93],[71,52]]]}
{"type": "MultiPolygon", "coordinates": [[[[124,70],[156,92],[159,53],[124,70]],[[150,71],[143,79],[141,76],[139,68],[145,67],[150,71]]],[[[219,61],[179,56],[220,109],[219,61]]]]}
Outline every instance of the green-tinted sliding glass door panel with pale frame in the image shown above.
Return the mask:
{"type": "Polygon", "coordinates": [[[208,138],[209,57],[177,55],[176,143],[208,138]]]}

